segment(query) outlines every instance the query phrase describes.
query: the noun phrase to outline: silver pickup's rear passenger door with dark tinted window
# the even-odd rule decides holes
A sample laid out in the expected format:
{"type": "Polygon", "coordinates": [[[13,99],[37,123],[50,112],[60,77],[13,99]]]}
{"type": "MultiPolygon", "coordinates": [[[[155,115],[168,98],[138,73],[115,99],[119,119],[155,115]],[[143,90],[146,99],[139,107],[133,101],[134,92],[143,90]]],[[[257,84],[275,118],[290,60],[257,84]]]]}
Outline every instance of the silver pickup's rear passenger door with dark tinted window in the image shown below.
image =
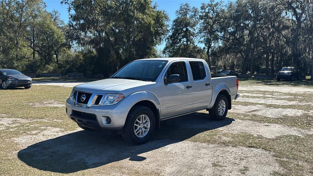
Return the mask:
{"type": "Polygon", "coordinates": [[[189,61],[192,71],[192,110],[207,107],[212,99],[212,83],[206,63],[203,61],[189,61]]]}

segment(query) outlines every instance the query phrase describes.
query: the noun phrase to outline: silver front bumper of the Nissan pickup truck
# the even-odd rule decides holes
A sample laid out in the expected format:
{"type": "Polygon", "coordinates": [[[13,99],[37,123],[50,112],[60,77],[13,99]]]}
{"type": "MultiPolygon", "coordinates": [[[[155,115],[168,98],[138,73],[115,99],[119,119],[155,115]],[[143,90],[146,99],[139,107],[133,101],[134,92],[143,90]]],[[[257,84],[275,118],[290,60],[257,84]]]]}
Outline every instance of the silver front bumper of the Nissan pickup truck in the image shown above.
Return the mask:
{"type": "Polygon", "coordinates": [[[67,99],[66,101],[66,111],[69,119],[85,127],[97,130],[121,130],[124,127],[126,117],[129,111],[128,109],[124,109],[121,107],[131,107],[130,101],[124,98],[115,105],[92,106],[90,108],[76,106],[74,105],[74,102],[70,99],[67,99]],[[76,116],[73,113],[74,111],[88,113],[91,114],[91,116],[95,117],[89,118],[85,116],[76,116]],[[109,117],[111,121],[109,124],[107,122],[107,117],[109,117]]]}

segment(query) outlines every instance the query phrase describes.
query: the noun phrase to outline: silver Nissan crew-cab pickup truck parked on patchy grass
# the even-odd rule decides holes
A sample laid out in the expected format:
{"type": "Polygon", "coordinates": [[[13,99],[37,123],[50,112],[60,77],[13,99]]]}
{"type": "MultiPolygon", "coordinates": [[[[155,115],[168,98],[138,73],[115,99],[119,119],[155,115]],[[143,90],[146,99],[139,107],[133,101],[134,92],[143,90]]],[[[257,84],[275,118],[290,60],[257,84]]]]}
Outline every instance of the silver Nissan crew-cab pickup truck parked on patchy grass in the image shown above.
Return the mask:
{"type": "Polygon", "coordinates": [[[109,79],[75,86],[66,113],[82,129],[116,132],[142,144],[162,120],[203,109],[223,120],[237,92],[236,76],[211,76],[202,59],[141,59],[109,79]]]}

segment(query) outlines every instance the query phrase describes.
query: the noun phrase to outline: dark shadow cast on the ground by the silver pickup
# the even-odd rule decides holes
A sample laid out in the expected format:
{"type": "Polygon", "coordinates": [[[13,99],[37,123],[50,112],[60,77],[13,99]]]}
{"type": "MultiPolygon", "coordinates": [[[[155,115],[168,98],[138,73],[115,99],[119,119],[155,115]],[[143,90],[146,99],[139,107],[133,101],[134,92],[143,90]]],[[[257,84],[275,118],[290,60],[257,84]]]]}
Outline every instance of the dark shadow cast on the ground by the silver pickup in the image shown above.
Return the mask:
{"type": "Polygon", "coordinates": [[[18,152],[18,158],[33,168],[56,173],[97,168],[126,158],[140,162],[146,159],[138,156],[141,153],[227,126],[233,121],[231,118],[213,121],[207,113],[198,112],[169,119],[161,122],[161,128],[149,142],[139,146],[126,143],[121,135],[78,131],[30,145],[18,152]]]}

